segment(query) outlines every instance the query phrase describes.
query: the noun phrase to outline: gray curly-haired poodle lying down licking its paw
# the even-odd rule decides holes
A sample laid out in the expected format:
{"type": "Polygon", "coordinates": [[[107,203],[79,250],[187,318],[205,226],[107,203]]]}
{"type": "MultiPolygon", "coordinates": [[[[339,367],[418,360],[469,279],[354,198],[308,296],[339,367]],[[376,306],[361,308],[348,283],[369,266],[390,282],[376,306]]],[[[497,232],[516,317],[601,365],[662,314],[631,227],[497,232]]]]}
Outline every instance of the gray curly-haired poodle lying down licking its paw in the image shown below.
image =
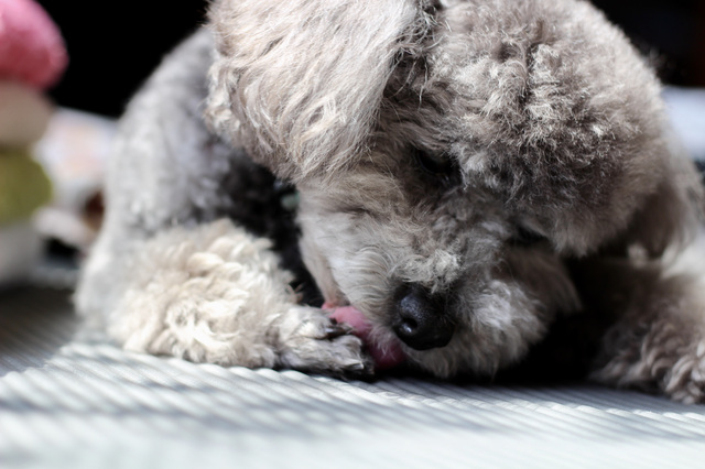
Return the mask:
{"type": "Polygon", "coordinates": [[[77,308],[195,362],[704,402],[660,90],[587,1],[216,0],[120,122],[77,308]]]}

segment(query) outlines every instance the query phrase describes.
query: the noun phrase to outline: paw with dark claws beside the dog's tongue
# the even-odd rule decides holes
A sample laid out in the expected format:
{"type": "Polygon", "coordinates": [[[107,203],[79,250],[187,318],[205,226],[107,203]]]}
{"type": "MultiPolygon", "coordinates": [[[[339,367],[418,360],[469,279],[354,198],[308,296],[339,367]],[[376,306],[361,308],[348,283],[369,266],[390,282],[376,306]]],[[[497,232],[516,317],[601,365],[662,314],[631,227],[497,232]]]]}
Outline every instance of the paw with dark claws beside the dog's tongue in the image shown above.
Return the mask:
{"type": "Polygon", "coordinates": [[[369,377],[372,360],[351,332],[318,308],[292,307],[280,325],[280,364],[336,377],[369,377]]]}

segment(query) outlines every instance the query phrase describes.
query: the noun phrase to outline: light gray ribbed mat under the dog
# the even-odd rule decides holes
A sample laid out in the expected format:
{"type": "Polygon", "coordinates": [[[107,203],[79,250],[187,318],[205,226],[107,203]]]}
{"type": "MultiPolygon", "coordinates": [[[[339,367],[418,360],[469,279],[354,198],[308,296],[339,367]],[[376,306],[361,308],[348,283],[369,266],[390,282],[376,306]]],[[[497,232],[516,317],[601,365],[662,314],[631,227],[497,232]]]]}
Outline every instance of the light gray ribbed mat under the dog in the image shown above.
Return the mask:
{"type": "Polygon", "coordinates": [[[702,405],[196,366],[82,339],[67,297],[0,293],[3,469],[705,465],[702,405]]]}

